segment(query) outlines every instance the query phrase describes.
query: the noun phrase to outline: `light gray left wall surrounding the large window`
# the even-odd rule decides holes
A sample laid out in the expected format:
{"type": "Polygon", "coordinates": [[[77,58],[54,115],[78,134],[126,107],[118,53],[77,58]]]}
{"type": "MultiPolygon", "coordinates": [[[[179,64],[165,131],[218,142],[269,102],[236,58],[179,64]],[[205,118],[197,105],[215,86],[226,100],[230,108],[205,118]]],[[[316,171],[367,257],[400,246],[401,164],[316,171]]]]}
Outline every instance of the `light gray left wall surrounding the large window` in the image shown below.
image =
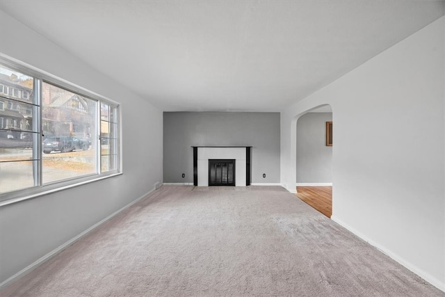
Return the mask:
{"type": "Polygon", "coordinates": [[[1,11],[0,51],[119,102],[124,172],[0,207],[1,283],[162,182],[163,120],[154,106],[1,11]]]}

